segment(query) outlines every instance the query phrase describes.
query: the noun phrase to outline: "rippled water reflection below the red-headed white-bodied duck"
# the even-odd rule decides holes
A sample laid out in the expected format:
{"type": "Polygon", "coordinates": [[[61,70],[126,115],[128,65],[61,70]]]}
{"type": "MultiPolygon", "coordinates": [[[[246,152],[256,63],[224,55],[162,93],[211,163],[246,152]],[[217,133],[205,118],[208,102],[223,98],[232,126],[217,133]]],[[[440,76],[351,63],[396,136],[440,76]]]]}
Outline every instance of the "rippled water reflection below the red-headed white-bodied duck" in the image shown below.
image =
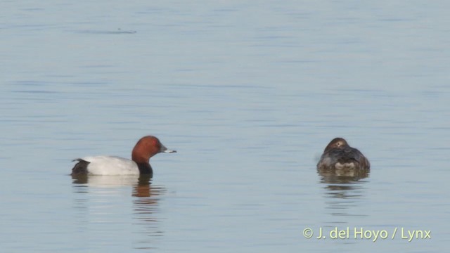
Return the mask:
{"type": "MultiPolygon", "coordinates": [[[[79,229],[89,229],[91,223],[96,223],[96,231],[103,235],[110,231],[98,231],[98,223],[111,220],[112,216],[129,214],[132,224],[132,234],[137,238],[136,249],[154,248],[154,238],[162,236],[163,232],[158,220],[158,201],[165,193],[162,186],[153,186],[150,176],[72,176],[75,198],[75,209],[79,229]],[[122,193],[129,192],[129,202],[123,202],[122,193]],[[117,202],[122,200],[122,202],[117,202]],[[136,236],[142,235],[142,236],[136,236]]],[[[113,219],[114,220],[114,219],[113,219]]],[[[105,229],[110,229],[105,227],[105,229]]]]}

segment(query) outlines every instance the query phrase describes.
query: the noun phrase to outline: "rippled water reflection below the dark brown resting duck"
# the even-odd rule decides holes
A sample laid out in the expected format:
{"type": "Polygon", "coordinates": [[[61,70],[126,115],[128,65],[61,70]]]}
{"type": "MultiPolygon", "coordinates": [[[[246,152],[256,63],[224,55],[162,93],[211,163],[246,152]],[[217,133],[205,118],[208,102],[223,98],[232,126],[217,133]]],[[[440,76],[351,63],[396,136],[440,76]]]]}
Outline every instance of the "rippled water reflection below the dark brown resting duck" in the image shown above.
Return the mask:
{"type": "Polygon", "coordinates": [[[325,186],[327,208],[333,216],[366,216],[355,214],[353,209],[358,206],[357,200],[366,196],[364,184],[369,176],[368,170],[340,171],[336,169],[318,169],[320,182],[325,186]]]}

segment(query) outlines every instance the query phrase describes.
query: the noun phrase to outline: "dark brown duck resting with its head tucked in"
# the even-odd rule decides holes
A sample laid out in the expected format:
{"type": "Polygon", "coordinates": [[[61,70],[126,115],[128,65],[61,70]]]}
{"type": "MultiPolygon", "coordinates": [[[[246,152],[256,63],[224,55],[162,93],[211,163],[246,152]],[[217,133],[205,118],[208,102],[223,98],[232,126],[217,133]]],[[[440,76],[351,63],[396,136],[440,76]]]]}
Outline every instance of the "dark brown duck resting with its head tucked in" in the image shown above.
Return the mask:
{"type": "Polygon", "coordinates": [[[317,163],[317,169],[335,169],[342,171],[369,170],[371,168],[368,159],[356,148],[352,148],[345,138],[333,138],[328,143],[321,159],[317,163]]]}

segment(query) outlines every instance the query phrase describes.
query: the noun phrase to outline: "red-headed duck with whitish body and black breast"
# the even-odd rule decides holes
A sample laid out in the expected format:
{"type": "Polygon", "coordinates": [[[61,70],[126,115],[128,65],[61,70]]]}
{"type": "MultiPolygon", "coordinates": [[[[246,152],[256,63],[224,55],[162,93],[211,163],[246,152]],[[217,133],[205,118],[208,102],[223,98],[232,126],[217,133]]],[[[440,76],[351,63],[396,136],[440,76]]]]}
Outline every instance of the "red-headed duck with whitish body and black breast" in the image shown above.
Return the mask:
{"type": "Polygon", "coordinates": [[[162,145],[155,136],[143,136],[134,145],[131,160],[127,158],[98,155],[77,158],[72,168],[72,176],[77,175],[150,175],[153,169],[150,166],[150,157],[158,153],[176,153],[162,145]]]}

